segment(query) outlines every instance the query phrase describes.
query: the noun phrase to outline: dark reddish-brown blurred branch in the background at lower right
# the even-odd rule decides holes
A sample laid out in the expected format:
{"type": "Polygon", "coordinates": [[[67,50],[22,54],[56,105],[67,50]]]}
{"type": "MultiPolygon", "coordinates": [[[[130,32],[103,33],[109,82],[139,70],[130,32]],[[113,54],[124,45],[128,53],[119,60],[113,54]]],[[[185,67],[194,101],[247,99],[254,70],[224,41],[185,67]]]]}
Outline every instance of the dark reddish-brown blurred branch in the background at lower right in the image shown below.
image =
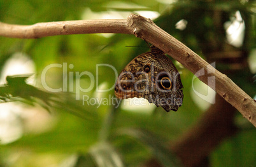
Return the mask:
{"type": "MultiPolygon", "coordinates": [[[[170,142],[170,150],[183,166],[209,166],[208,157],[221,142],[238,132],[234,126],[236,109],[219,95],[216,103],[204,112],[196,124],[180,138],[170,142]]],[[[146,167],[162,167],[155,157],[144,164],[146,167]]]]}

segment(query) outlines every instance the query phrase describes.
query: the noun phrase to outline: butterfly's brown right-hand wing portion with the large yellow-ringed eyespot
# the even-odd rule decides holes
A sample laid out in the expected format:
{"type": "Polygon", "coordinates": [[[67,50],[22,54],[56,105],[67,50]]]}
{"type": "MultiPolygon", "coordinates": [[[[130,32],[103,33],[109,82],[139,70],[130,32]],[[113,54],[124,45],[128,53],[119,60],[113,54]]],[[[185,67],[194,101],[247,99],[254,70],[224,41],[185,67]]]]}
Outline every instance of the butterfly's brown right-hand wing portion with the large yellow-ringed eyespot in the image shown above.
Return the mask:
{"type": "Polygon", "coordinates": [[[176,111],[183,102],[180,73],[166,55],[153,55],[152,59],[155,60],[153,65],[155,82],[148,101],[164,108],[167,112],[176,111]]]}

